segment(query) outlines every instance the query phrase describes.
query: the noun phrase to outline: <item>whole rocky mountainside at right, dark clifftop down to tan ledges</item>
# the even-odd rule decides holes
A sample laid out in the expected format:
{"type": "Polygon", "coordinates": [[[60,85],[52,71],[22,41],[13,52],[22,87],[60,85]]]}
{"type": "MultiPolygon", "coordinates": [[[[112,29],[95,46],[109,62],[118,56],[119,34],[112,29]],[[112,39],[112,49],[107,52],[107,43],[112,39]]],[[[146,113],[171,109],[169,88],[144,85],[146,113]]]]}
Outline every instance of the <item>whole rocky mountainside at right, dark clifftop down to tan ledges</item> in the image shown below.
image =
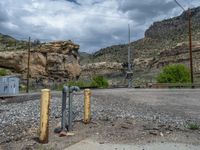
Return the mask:
{"type": "MultiPolygon", "coordinates": [[[[191,9],[193,61],[196,80],[200,79],[200,7],[191,9]]],[[[189,67],[188,15],[153,23],[145,37],[131,43],[131,63],[135,78],[154,80],[160,69],[170,63],[183,63],[189,67]]],[[[102,48],[90,59],[94,62],[127,63],[128,45],[102,48]]]]}

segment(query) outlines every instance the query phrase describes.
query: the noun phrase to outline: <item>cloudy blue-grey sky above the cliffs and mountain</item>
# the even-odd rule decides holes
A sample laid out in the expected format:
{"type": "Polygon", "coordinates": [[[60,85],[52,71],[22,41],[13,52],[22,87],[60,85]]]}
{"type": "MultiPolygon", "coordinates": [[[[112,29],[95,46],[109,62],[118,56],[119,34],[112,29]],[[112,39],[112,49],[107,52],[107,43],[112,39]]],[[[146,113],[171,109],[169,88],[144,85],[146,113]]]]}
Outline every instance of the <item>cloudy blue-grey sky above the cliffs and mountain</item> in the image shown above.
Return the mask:
{"type": "MultiPolygon", "coordinates": [[[[179,0],[187,9],[200,0],[179,0]]],[[[72,40],[93,52],[144,36],[153,23],[180,15],[173,0],[0,0],[0,33],[18,39],[72,40]]]]}

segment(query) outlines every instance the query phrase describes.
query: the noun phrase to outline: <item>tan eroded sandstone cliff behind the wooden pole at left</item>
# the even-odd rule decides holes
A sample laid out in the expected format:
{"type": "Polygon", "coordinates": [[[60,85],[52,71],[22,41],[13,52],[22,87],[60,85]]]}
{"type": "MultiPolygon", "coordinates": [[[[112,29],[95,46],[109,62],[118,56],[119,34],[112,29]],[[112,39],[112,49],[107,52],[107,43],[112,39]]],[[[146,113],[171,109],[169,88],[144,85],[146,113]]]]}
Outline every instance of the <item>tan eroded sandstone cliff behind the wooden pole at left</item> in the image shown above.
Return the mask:
{"type": "MultiPolygon", "coordinates": [[[[50,42],[31,49],[30,78],[46,82],[78,78],[81,72],[78,49],[79,45],[71,41],[50,42]]],[[[27,61],[27,51],[0,52],[0,67],[21,74],[22,79],[26,79],[27,61]]]]}

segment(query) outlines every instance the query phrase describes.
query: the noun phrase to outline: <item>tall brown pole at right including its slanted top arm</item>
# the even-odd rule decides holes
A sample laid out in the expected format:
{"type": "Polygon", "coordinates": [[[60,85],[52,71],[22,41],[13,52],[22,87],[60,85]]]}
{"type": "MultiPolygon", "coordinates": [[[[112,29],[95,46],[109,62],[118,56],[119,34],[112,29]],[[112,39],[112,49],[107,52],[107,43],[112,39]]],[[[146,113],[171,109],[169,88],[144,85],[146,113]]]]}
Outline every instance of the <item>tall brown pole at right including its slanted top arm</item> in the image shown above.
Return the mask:
{"type": "Polygon", "coordinates": [[[188,14],[188,36],[189,36],[189,54],[190,54],[190,78],[191,78],[191,83],[193,84],[194,82],[194,75],[193,75],[193,57],[192,57],[192,31],[191,31],[191,10],[188,8],[188,11],[185,10],[185,8],[177,1],[174,0],[176,4],[188,14]]]}

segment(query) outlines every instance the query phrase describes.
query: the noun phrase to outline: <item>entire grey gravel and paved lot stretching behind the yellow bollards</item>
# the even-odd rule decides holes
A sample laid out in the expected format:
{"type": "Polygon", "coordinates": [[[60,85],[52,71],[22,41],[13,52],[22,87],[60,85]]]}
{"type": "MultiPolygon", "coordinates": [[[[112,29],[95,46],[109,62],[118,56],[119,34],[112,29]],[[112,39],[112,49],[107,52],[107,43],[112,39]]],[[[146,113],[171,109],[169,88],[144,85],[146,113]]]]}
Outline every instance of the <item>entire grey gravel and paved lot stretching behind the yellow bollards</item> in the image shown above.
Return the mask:
{"type": "MultiPolygon", "coordinates": [[[[92,118],[97,122],[108,122],[108,124],[102,124],[102,126],[109,126],[109,123],[112,124],[117,119],[127,120],[129,118],[129,120],[132,119],[131,121],[140,120],[144,124],[152,122],[154,125],[156,122],[159,125],[170,125],[173,128],[172,130],[187,130],[185,128],[187,122],[199,123],[199,97],[199,89],[93,90],[91,99],[92,118]]],[[[83,93],[75,94],[73,105],[76,121],[83,118],[83,104],[83,93]]],[[[0,102],[1,145],[25,141],[28,139],[27,136],[31,135],[33,129],[37,130],[39,124],[39,105],[38,97],[35,100],[21,103],[0,102]]],[[[61,97],[53,96],[51,100],[50,124],[57,124],[60,117],[61,97]]],[[[81,128],[82,125],[78,125],[81,128]]],[[[126,128],[126,125],[124,128],[126,128]]],[[[149,128],[149,126],[146,128],[149,128]]],[[[126,140],[128,139],[129,137],[126,138],[126,140]]]]}

